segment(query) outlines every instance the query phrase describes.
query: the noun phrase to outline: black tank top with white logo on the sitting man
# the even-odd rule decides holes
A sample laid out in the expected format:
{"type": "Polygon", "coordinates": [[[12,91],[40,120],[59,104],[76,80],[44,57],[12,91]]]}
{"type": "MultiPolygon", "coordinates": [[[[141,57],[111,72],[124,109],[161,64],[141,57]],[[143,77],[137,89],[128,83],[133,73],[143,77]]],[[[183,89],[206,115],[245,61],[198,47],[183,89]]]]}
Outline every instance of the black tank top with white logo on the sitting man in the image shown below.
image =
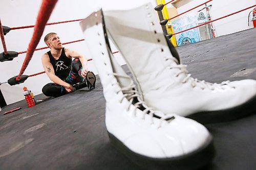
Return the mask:
{"type": "Polygon", "coordinates": [[[62,52],[58,60],[53,58],[51,51],[47,52],[47,54],[50,58],[55,75],[61,80],[66,79],[71,70],[72,59],[66,56],[64,47],[62,48],[62,52]]]}

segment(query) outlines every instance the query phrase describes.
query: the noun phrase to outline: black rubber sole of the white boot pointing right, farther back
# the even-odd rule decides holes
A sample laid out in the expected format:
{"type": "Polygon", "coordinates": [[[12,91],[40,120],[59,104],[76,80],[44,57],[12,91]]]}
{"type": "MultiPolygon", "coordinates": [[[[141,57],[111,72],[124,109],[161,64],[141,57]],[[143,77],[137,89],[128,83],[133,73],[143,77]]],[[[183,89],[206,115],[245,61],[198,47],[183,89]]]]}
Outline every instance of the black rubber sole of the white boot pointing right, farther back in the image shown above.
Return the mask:
{"type": "Polygon", "coordinates": [[[256,95],[246,103],[225,110],[198,112],[186,116],[201,124],[221,123],[236,120],[256,113],[256,95]]]}

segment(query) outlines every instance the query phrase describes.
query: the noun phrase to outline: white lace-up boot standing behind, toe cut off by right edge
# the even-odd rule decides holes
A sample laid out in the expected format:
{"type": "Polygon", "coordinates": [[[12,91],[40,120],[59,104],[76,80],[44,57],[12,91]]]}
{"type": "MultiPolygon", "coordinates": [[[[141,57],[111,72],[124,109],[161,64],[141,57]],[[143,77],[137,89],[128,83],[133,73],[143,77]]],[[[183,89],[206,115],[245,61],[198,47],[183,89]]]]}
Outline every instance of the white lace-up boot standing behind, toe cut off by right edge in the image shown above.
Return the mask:
{"type": "Polygon", "coordinates": [[[134,75],[142,100],[163,113],[217,123],[256,112],[256,81],[208,83],[191,78],[170,53],[151,4],[105,11],[106,30],[134,75]]]}

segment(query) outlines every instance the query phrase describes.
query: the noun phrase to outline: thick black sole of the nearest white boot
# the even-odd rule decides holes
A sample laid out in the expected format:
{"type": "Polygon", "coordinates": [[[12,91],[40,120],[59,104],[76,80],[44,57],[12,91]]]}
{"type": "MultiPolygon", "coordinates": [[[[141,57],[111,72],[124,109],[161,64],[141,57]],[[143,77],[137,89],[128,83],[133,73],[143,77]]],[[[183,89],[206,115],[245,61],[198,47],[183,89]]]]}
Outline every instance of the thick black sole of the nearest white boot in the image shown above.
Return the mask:
{"type": "Polygon", "coordinates": [[[197,169],[211,162],[215,156],[215,148],[210,136],[205,144],[195,152],[175,158],[151,158],[139,155],[127,148],[114,135],[109,133],[111,143],[126,157],[145,169],[197,169]]]}

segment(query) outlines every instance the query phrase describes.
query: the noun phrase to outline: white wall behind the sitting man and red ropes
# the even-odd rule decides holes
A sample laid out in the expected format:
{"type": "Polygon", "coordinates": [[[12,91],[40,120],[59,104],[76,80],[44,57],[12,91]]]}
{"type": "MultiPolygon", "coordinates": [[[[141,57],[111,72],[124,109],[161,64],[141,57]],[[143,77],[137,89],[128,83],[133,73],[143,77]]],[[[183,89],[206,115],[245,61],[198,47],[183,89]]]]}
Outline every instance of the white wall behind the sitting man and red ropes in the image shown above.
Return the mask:
{"type": "MultiPolygon", "coordinates": [[[[119,0],[59,0],[48,22],[84,18],[95,9],[97,9],[97,7],[102,7],[104,10],[121,10],[134,8],[146,2],[152,2],[153,6],[156,6],[155,0],[129,0],[123,2],[120,2],[119,0]]],[[[41,1],[39,0],[0,1],[0,7],[4,7],[0,10],[2,25],[8,26],[10,28],[34,25],[40,5],[41,1]]],[[[42,35],[41,40],[37,45],[37,48],[46,46],[46,44],[44,43],[44,37],[49,32],[56,32],[60,36],[62,43],[84,38],[80,30],[79,22],[61,23],[58,25],[47,26],[45,28],[44,34],[42,35]]],[[[5,36],[7,50],[16,52],[26,51],[32,37],[32,33],[33,28],[11,30],[5,36]]],[[[86,52],[83,50],[84,45],[85,42],[81,41],[77,43],[67,44],[64,46],[67,48],[72,48],[73,50],[78,51],[82,55],[91,58],[90,56],[87,56],[86,52]]],[[[112,50],[116,51],[116,48],[113,48],[112,50]]],[[[2,53],[3,51],[4,50],[1,44],[0,52],[2,53]]],[[[32,60],[30,61],[27,69],[24,72],[24,75],[31,75],[44,70],[41,66],[41,56],[47,51],[49,51],[49,49],[35,51],[32,60]]],[[[26,54],[20,54],[13,61],[0,63],[0,82],[6,82],[11,77],[18,75],[25,56],[26,54]]],[[[120,54],[115,54],[115,56],[120,64],[124,64],[124,61],[122,60],[120,54]]],[[[90,70],[96,72],[93,61],[89,61],[88,66],[90,70]]],[[[28,87],[28,89],[31,90],[34,94],[39,94],[41,93],[41,88],[49,82],[50,80],[47,75],[42,74],[28,78],[23,84],[15,86],[10,86],[9,84],[2,84],[0,88],[3,92],[7,104],[11,104],[24,99],[22,90],[23,86],[28,87]]]]}

